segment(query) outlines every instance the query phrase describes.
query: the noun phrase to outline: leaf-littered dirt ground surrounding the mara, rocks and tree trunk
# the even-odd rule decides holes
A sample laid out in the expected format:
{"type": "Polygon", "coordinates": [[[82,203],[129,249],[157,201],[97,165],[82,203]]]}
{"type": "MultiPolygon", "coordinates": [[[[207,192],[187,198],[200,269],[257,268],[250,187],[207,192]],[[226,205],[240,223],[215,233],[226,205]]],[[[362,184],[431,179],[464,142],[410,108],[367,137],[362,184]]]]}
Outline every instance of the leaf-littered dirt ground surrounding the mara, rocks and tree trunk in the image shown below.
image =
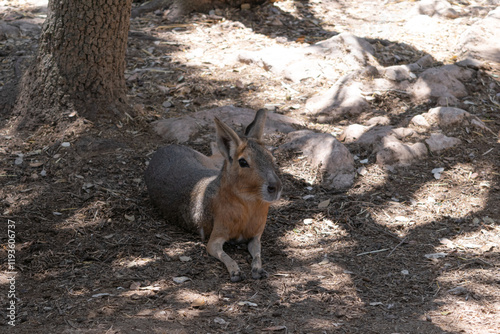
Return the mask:
{"type": "MultiPolygon", "coordinates": [[[[4,19],[43,21],[43,10],[10,3],[4,19]]],[[[66,115],[65,131],[44,126],[25,136],[7,128],[9,110],[1,111],[0,332],[499,333],[500,143],[492,133],[457,129],[464,145],[391,170],[349,146],[367,172],[345,192],[319,187],[300,156],[278,156],[285,191],[263,235],[264,280],[231,283],[205,244],[168,225],[147,197],[143,171],[167,144],[152,131],[160,118],[224,105],[267,107],[335,135],[359,121],[315,123],[301,108],[317,83],[283,82],[219,56],[349,31],[369,38],[385,66],[424,54],[450,63],[457,37],[485,15],[440,18],[435,35],[411,34],[404,17],[414,6],[284,1],[175,24],[161,12],[147,14],[131,23],[126,77],[137,115],[128,122],[95,125],[66,115]],[[437,167],[444,168],[439,179],[431,172],[437,167]],[[329,206],[318,207],[325,200],[329,206]],[[16,232],[15,327],[7,324],[9,221],[16,232]],[[176,283],[179,277],[188,280],[176,283]]],[[[8,87],[36,39],[1,45],[0,81],[8,87]]],[[[466,99],[468,111],[498,134],[496,66],[468,83],[466,99]]],[[[370,103],[392,125],[433,107],[397,92],[370,103]]],[[[267,140],[276,146],[282,136],[267,140]]],[[[208,144],[190,146],[208,153],[208,144]]],[[[246,249],[227,250],[248,273],[246,249]]]]}

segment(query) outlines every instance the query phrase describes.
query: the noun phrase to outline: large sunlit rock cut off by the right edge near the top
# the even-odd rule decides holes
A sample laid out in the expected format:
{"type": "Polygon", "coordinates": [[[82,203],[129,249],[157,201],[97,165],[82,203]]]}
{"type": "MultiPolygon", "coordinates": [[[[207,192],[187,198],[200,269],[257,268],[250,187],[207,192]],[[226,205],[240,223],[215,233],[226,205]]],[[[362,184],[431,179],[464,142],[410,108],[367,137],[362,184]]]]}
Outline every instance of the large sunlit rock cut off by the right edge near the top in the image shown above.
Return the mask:
{"type": "Polygon", "coordinates": [[[462,58],[472,57],[500,63],[498,41],[500,41],[500,7],[467,29],[460,37],[456,50],[457,53],[463,54],[462,58]]]}

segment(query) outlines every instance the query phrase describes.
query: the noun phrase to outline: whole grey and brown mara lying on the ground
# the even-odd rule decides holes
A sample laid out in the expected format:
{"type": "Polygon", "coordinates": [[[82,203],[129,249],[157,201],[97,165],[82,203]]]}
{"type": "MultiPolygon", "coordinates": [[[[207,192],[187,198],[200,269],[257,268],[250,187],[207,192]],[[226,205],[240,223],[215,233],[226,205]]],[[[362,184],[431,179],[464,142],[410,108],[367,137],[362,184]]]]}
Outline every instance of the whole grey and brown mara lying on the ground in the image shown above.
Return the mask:
{"type": "Polygon", "coordinates": [[[145,173],[153,203],[167,220],[197,230],[202,238],[208,236],[207,251],[224,262],[232,281],[244,275],[222,249],[230,240],[248,241],[252,277],[267,276],[261,265],[260,238],[270,202],[280,196],[281,182],[260,141],[265,118],[265,111],[257,112],[244,137],[215,119],[224,159],[220,173],[213,169],[213,159],[177,145],[159,149],[145,173]]]}

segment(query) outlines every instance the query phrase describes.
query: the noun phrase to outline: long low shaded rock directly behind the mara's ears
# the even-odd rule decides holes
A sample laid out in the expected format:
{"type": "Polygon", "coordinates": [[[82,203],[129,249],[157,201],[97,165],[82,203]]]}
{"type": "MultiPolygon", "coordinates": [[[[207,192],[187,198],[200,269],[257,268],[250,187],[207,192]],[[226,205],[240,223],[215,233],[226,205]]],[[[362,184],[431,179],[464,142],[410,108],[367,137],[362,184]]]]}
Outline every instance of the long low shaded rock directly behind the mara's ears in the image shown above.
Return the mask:
{"type": "MultiPolygon", "coordinates": [[[[248,108],[237,108],[225,106],[208,110],[201,110],[189,116],[179,118],[168,118],[153,123],[154,131],[162,138],[176,143],[186,143],[199,136],[203,130],[212,129],[214,133],[213,118],[218,117],[221,121],[234,129],[246,127],[252,122],[255,111],[248,108]]],[[[283,115],[272,112],[267,113],[264,133],[295,131],[294,125],[297,121],[283,115]]]]}

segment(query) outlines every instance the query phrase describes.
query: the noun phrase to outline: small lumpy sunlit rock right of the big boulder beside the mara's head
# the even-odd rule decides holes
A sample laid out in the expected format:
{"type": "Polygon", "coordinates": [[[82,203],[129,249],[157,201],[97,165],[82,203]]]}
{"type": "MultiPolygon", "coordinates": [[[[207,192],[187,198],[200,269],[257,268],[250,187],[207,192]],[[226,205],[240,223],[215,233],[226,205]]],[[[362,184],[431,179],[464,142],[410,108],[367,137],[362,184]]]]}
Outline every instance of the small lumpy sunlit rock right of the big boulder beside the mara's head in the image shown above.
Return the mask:
{"type": "Polygon", "coordinates": [[[407,145],[394,136],[387,136],[377,149],[377,164],[407,166],[426,155],[427,147],[424,143],[407,145]]]}

